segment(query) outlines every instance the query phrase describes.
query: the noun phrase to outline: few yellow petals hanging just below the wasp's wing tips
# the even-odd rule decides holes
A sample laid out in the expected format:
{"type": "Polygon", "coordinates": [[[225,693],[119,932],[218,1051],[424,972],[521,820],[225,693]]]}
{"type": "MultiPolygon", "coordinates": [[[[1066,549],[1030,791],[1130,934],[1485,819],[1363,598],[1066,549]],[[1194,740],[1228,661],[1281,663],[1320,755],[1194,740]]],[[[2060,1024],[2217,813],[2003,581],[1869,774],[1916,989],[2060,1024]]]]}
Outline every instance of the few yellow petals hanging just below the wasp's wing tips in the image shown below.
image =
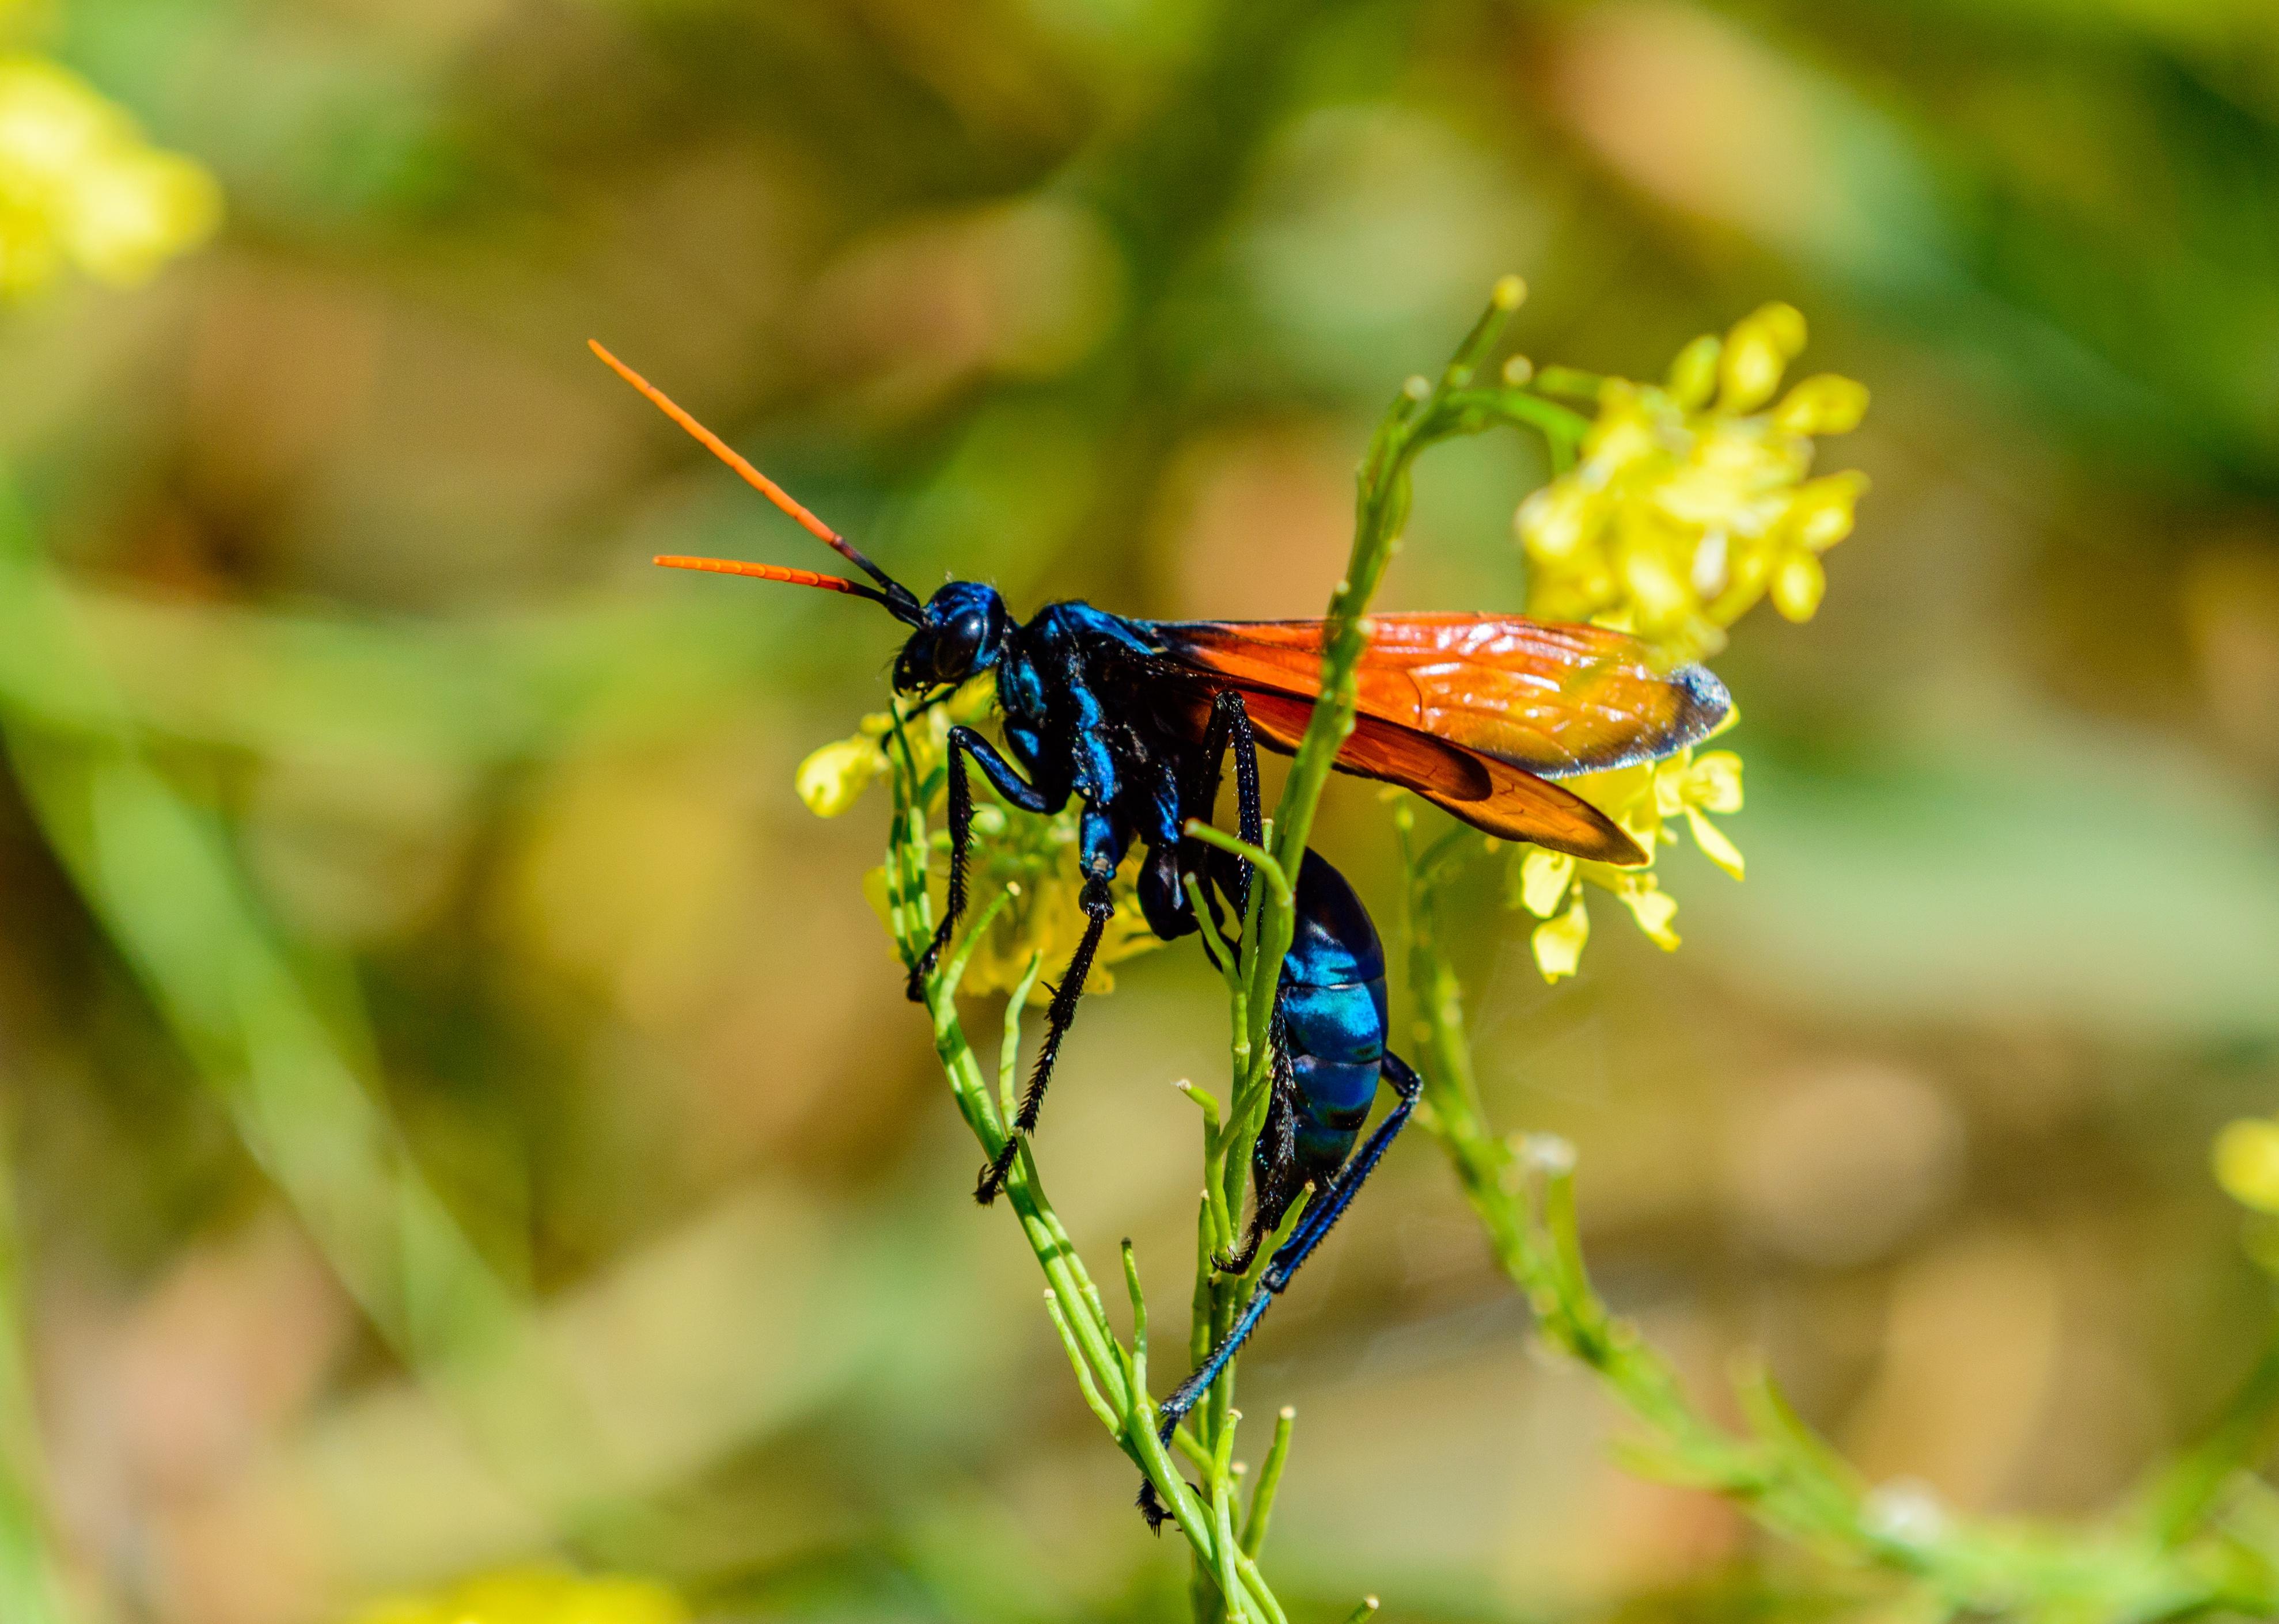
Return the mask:
{"type": "Polygon", "coordinates": [[[1671,920],[1677,916],[1677,900],[1655,877],[1652,856],[1659,847],[1677,843],[1675,822],[1684,818],[1686,829],[1693,831],[1693,845],[1712,863],[1741,879],[1741,852],[1723,829],[1709,822],[1709,813],[1741,811],[1741,758],[1730,749],[1700,754],[1682,749],[1666,761],[1570,779],[1568,788],[1623,825],[1639,850],[1648,854],[1648,863],[1645,868],[1616,868],[1563,852],[1545,852],[1538,845],[1520,847],[1506,872],[1506,900],[1543,920],[1534,934],[1536,968],[1543,970],[1543,979],[1557,982],[1563,975],[1575,975],[1584,943],[1591,941],[1584,884],[1614,893],[1614,900],[1629,909],[1639,929],[1657,948],[1675,952],[1677,932],[1671,929],[1671,920]]]}

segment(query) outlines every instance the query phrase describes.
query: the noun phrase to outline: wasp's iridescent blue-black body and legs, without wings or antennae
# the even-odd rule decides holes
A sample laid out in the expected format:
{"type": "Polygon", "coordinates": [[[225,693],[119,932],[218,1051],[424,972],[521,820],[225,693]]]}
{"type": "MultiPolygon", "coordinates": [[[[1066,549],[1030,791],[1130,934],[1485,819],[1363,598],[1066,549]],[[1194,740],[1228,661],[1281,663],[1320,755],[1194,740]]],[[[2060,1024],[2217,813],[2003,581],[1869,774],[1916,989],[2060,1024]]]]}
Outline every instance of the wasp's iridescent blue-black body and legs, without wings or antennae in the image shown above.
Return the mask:
{"type": "MultiPolygon", "coordinates": [[[[1016,1137],[1035,1125],[1035,1105],[1060,1034],[1073,1016],[1096,925],[1110,911],[1108,879],[1133,840],[1146,847],[1140,907],[1158,936],[1176,938],[1199,929],[1185,888],[1190,877],[1233,902],[1235,918],[1244,911],[1249,866],[1183,834],[1187,820],[1210,822],[1228,752],[1235,758],[1235,822],[1249,845],[1263,845],[1263,811],[1258,747],[1244,695],[1210,692],[1196,683],[1192,670],[1165,658],[1155,629],[1144,620],[1110,615],[1089,604],[1048,604],[1016,624],[989,588],[950,583],[925,606],[925,622],[905,645],[896,688],[916,690],[978,670],[996,672],[1005,745],[1014,761],[973,729],[950,733],[950,907],[937,943],[946,941],[948,920],[957,918],[964,902],[962,854],[971,802],[959,758],[971,758],[1007,802],[1026,811],[1051,813],[1071,795],[1078,799],[1078,863],[1085,875],[1085,911],[1094,920],[1053,998],[1014,1137],[1007,1137],[1005,1155],[985,1171],[987,1196],[1003,1178],[1016,1137]],[[1208,722],[1201,722],[1206,715],[1208,722]]],[[[1310,1194],[1310,1200],[1258,1276],[1258,1291],[1226,1337],[1165,1401],[1165,1437],[1217,1380],[1258,1328],[1267,1305],[1351,1205],[1422,1091],[1418,1075],[1386,1048],[1386,950],[1361,897],[1345,875],[1308,850],[1292,902],[1294,929],[1274,998],[1274,1096],[1253,1153],[1256,1200],[1242,1246],[1233,1257],[1222,1257],[1219,1269],[1247,1271],[1263,1239],[1283,1225],[1301,1198],[1310,1194]],[[1395,1107],[1361,1143],[1379,1084],[1392,1086],[1395,1107]]],[[[921,961],[912,975],[914,986],[923,968],[921,961]]],[[[1151,1522],[1160,1517],[1151,1494],[1140,1506],[1151,1522]]]]}

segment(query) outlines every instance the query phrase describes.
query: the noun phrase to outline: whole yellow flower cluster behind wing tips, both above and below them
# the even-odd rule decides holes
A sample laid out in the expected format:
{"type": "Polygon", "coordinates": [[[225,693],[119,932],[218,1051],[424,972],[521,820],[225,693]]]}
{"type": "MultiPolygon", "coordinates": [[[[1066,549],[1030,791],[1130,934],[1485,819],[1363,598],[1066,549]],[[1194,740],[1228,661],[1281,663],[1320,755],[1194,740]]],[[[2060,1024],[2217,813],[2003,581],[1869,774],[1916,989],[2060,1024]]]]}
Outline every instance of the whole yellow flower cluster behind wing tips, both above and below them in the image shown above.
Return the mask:
{"type": "MultiPolygon", "coordinates": [[[[1807,478],[1812,440],[1857,428],[1867,389],[1823,374],[1773,403],[1803,348],[1805,319],[1766,305],[1723,339],[1686,344],[1659,385],[1609,378],[1575,467],[1520,503],[1527,613],[1634,631],[1673,663],[1723,649],[1725,629],[1766,597],[1789,620],[1810,620],[1828,588],[1821,553],[1851,533],[1867,490],[1860,474],[1807,478]]],[[[1648,863],[1520,850],[1506,893],[1543,920],[1534,952],[1547,982],[1575,975],[1591,938],[1584,884],[1609,891],[1659,948],[1677,948],[1677,900],[1655,859],[1677,840],[1680,818],[1702,854],[1741,879],[1741,852],[1707,815],[1741,811],[1741,758],[1730,749],[1686,749],[1566,788],[1623,825],[1648,863]]]]}

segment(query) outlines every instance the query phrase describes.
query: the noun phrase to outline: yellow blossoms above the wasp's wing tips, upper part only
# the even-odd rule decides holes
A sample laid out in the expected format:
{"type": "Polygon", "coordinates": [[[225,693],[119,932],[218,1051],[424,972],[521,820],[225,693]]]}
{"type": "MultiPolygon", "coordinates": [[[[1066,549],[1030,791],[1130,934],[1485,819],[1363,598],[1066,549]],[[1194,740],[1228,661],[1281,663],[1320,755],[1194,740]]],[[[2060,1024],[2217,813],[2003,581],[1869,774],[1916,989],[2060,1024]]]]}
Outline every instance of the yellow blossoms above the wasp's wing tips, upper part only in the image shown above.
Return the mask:
{"type": "Polygon", "coordinates": [[[1609,378],[1577,465],[1520,503],[1527,613],[1623,624],[1680,661],[1766,594],[1812,620],[1867,490],[1805,478],[1812,437],[1857,428],[1867,389],[1821,374],[1771,405],[1803,346],[1805,319],[1766,305],[1686,344],[1659,387],[1609,378]]]}

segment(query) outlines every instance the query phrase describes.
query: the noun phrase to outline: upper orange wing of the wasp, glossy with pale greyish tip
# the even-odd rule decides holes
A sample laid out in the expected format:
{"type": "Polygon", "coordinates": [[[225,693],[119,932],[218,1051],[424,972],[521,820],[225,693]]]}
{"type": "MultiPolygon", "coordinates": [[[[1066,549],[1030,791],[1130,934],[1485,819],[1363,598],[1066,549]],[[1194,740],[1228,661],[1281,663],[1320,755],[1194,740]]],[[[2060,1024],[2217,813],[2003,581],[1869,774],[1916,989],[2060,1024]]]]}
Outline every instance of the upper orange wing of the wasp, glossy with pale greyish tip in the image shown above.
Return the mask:
{"type": "MultiPolygon", "coordinates": [[[[1320,690],[1320,620],[1146,622],[1165,651],[1233,686],[1320,690]]],[[[1700,665],[1659,672],[1643,642],[1518,615],[1372,615],[1361,715],[1431,733],[1543,779],[1657,761],[1707,736],[1732,699],[1700,665]]]]}

